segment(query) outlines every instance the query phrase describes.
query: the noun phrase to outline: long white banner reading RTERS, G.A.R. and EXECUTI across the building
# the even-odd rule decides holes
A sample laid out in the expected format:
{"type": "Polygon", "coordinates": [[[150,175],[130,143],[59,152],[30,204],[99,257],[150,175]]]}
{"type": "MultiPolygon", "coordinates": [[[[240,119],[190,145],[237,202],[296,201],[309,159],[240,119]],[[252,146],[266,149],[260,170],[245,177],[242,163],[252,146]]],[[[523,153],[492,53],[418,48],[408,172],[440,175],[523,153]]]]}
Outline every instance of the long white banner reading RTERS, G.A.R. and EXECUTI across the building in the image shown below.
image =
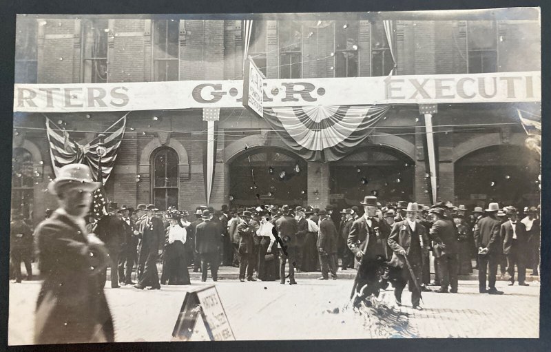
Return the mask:
{"type": "MultiPolygon", "coordinates": [[[[16,84],[15,112],[243,107],[243,81],[16,84]]],[[[541,72],[267,79],[264,107],[541,101],[541,72]]]]}

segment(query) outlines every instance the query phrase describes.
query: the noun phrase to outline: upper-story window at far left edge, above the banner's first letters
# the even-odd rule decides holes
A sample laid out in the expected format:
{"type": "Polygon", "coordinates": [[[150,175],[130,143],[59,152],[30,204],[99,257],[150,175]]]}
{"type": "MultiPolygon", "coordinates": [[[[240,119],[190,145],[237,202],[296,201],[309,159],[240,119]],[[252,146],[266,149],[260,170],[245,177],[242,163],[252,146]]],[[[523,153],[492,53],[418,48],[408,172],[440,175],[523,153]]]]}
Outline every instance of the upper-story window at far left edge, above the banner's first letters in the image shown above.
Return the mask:
{"type": "Polygon", "coordinates": [[[15,83],[37,83],[37,19],[17,17],[15,83]]]}

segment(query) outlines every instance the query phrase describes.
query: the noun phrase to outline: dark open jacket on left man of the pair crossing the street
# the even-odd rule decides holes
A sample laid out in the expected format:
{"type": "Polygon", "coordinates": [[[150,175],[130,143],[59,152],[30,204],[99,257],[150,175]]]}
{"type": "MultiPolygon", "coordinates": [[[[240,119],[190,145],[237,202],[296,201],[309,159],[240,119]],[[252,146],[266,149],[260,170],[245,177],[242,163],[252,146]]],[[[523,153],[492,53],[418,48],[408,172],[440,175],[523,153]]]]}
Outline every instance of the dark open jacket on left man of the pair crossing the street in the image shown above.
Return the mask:
{"type": "Polygon", "coordinates": [[[379,231],[382,240],[385,242],[384,251],[386,258],[388,258],[391,253],[390,248],[386,245],[386,241],[388,240],[388,235],[391,233],[391,227],[388,226],[385,220],[379,220],[377,217],[373,217],[371,220],[371,236],[368,236],[368,225],[365,216],[357,218],[357,220],[352,223],[346,245],[349,246],[355,256],[357,256],[359,251],[367,253],[368,246],[376,245],[376,231],[379,231]]]}

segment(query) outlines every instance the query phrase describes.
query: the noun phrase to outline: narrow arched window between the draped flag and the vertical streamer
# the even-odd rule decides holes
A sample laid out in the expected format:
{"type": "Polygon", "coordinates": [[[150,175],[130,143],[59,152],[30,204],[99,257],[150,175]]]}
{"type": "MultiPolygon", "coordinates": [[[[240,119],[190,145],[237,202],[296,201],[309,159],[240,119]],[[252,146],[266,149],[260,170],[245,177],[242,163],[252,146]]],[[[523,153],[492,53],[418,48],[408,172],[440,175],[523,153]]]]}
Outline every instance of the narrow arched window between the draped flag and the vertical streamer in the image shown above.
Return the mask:
{"type": "Polygon", "coordinates": [[[163,147],[153,154],[153,203],[160,210],[178,207],[178,154],[163,147]]]}

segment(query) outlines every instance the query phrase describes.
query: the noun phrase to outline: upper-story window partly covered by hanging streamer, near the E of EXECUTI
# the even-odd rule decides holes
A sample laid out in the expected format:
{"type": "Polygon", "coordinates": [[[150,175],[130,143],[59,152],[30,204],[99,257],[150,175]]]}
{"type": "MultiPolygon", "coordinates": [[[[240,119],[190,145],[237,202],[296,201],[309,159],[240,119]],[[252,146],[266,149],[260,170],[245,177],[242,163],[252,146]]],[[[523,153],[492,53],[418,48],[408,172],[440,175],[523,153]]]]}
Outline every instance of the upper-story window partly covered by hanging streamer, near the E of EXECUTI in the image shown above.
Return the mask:
{"type": "Polygon", "coordinates": [[[382,21],[371,22],[371,76],[387,76],[394,68],[382,21]]]}

